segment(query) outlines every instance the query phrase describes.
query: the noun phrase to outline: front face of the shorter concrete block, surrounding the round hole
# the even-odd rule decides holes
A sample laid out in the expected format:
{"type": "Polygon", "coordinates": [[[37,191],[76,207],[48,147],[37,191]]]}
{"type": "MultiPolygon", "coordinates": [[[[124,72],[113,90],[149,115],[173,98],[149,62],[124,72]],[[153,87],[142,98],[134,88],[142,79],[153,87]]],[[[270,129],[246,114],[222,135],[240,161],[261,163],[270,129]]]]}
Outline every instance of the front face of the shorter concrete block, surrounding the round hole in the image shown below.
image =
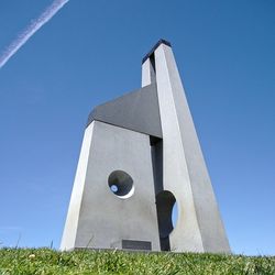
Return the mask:
{"type": "MultiPolygon", "coordinates": [[[[80,210],[73,201],[68,213],[79,213],[75,220],[78,227],[76,233],[64,232],[67,242],[62,248],[69,249],[66,243],[75,238],[75,248],[121,249],[122,240],[134,240],[151,242],[152,250],[160,251],[148,135],[98,121],[91,124],[80,210]],[[124,170],[133,178],[134,194],[130,198],[119,198],[110,190],[108,177],[113,170],[124,170]]],[[[82,182],[75,185],[80,187],[82,182]]],[[[65,231],[74,226],[68,223],[65,231]]]]}

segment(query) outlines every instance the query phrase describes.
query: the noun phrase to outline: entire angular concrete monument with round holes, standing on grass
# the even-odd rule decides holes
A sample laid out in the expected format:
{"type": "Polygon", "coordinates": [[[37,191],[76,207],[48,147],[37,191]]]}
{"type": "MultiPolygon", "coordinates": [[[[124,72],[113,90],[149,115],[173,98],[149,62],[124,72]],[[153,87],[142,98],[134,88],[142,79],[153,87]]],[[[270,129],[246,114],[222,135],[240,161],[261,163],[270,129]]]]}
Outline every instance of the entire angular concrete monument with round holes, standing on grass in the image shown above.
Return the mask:
{"type": "Polygon", "coordinates": [[[81,248],[230,252],[167,41],[143,58],[141,89],[88,118],[61,245],[81,248]]]}

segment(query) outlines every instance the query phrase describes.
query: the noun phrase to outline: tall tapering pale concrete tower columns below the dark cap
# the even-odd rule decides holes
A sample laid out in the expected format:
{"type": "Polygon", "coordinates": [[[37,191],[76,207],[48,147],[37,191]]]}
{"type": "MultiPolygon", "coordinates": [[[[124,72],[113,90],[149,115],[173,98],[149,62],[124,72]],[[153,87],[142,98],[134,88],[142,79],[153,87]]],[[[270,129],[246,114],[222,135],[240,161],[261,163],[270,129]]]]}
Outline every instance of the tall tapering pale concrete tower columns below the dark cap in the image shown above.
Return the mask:
{"type": "MultiPolygon", "coordinates": [[[[161,44],[153,58],[163,130],[163,189],[178,205],[170,250],[230,252],[172,48],[161,44]]],[[[143,64],[142,86],[154,80],[150,63],[147,58],[143,64]]]]}

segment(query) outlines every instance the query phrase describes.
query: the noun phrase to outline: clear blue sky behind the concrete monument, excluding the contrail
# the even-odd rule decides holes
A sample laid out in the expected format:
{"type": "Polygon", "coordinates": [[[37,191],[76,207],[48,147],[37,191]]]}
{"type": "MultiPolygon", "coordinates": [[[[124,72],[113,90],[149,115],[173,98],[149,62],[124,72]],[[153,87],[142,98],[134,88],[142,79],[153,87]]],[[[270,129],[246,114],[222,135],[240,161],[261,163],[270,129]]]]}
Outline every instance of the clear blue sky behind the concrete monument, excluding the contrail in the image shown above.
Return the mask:
{"type": "MultiPolygon", "coordinates": [[[[0,1],[0,52],[52,2],[0,1]]],[[[1,245],[59,246],[87,116],[141,86],[163,37],[232,251],[274,255],[274,14],[273,0],[70,0],[0,69],[1,245]]]]}

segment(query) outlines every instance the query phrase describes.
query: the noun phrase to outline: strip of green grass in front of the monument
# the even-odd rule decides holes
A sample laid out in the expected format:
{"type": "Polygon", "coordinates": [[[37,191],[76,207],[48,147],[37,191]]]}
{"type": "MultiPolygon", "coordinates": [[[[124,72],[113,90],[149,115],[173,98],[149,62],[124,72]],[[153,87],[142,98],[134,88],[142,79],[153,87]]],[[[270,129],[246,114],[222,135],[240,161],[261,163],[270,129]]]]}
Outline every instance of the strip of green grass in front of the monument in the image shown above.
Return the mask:
{"type": "Polygon", "coordinates": [[[1,249],[0,274],[275,274],[275,257],[1,249]]]}

